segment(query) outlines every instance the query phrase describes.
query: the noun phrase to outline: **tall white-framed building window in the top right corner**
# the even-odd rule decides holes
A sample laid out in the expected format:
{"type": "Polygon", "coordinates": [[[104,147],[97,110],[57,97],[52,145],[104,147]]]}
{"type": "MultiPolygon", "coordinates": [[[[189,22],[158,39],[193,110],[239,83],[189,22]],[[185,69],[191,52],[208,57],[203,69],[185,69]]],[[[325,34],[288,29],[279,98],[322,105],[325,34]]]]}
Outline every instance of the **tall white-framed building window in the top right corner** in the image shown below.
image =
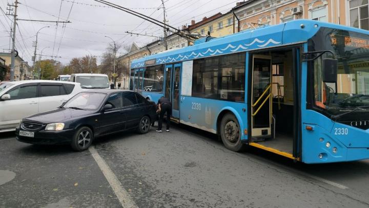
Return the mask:
{"type": "Polygon", "coordinates": [[[368,0],[350,1],[350,26],[369,30],[368,0]]]}

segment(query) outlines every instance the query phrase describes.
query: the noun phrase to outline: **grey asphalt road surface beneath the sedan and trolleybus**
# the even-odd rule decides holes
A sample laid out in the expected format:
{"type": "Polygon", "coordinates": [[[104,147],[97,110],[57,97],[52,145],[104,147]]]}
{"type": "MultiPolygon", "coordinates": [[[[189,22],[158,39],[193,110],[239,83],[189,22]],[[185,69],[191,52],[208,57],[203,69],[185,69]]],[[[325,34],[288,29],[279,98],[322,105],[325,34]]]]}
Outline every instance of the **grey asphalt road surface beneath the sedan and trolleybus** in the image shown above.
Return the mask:
{"type": "MultiPolygon", "coordinates": [[[[369,207],[369,160],[308,165],[254,148],[234,153],[183,126],[103,137],[94,148],[138,207],[369,207]]],[[[0,158],[0,171],[15,173],[0,178],[0,207],[121,207],[90,151],[7,133],[0,158]]]]}

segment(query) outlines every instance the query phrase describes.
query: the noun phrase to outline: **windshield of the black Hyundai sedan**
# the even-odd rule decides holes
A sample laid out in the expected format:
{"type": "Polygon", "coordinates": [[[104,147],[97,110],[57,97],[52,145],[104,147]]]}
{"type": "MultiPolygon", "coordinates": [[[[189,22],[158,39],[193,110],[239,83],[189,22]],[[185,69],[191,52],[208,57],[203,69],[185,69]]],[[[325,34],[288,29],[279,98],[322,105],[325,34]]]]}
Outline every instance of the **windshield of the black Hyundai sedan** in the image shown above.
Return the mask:
{"type": "Polygon", "coordinates": [[[68,100],[63,107],[82,110],[97,110],[106,95],[107,94],[105,93],[81,92],[68,100]]]}

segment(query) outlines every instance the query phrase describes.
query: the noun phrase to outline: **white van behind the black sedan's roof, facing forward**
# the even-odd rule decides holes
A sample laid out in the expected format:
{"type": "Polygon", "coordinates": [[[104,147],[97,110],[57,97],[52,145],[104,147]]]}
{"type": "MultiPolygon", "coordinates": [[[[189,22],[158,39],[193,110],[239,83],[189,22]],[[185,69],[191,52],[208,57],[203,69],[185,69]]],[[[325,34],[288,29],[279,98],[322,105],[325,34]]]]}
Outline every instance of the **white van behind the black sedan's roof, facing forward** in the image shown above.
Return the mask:
{"type": "Polygon", "coordinates": [[[72,74],[71,81],[78,82],[83,89],[110,89],[109,78],[106,74],[72,74]]]}

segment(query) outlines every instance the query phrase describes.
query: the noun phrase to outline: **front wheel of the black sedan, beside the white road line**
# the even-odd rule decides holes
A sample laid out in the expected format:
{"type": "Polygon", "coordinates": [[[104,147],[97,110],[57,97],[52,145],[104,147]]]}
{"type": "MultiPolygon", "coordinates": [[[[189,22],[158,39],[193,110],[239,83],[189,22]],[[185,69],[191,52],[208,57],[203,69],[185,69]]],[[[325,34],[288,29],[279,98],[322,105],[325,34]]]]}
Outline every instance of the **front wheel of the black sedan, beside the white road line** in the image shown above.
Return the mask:
{"type": "Polygon", "coordinates": [[[81,127],[74,134],[72,139],[72,149],[75,151],[87,150],[93,141],[93,134],[90,128],[81,127]]]}

